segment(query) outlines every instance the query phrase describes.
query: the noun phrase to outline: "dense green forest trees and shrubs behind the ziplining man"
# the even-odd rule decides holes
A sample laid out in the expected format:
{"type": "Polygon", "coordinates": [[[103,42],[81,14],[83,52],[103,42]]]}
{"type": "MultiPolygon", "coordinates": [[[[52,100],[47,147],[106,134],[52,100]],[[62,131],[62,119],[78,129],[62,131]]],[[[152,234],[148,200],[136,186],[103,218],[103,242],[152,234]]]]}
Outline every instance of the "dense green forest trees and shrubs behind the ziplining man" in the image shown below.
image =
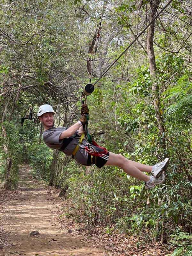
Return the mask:
{"type": "MultiPolygon", "coordinates": [[[[117,2],[106,1],[92,82],[142,31],[154,6],[158,12],[167,3],[117,2]]],[[[192,10],[188,1],[172,1],[155,22],[155,76],[145,31],[88,97],[89,129],[109,151],[150,165],[170,157],[163,185],[146,191],[143,182],[116,167],[77,165],[44,145],[38,122],[20,124],[30,107],[36,112],[42,103],[54,106],[56,126],[78,120],[79,96],[89,81],[87,63],[93,58],[88,49],[101,9],[97,1],[1,1],[1,184],[12,163],[8,184],[16,188],[19,164],[28,162],[34,175],[49,183],[53,172],[50,184],[62,188],[71,200],[68,217],[104,225],[108,233],[142,232],[143,239],[179,246],[174,255],[191,255],[192,10]]]]}

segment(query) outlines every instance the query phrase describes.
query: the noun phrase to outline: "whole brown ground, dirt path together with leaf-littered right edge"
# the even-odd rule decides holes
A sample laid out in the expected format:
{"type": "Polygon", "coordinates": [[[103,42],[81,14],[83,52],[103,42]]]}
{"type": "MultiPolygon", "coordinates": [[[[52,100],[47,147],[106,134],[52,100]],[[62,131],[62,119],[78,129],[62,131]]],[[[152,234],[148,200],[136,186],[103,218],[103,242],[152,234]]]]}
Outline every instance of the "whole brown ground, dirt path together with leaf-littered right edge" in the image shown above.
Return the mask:
{"type": "Polygon", "coordinates": [[[20,169],[17,191],[0,190],[0,256],[168,256],[168,245],[67,218],[70,200],[20,169]],[[62,216],[62,218],[60,218],[62,216]],[[38,230],[40,236],[29,236],[38,230]],[[138,247],[138,242],[140,246],[138,247]]]}

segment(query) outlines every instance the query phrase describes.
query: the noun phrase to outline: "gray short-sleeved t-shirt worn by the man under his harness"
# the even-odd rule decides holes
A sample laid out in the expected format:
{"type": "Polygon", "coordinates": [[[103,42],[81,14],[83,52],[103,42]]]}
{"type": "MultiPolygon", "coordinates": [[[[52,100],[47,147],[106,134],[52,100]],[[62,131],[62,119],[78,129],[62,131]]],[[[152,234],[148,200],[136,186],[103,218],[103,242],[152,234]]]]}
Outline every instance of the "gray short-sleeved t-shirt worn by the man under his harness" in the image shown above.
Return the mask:
{"type": "MultiPolygon", "coordinates": [[[[53,126],[52,128],[44,131],[43,140],[49,148],[55,148],[55,149],[59,149],[59,150],[62,148],[63,144],[65,144],[66,142],[68,143],[68,141],[70,141],[69,144],[61,151],[63,151],[67,156],[71,156],[73,153],[73,150],[76,148],[76,145],[79,142],[80,136],[77,135],[77,132],[76,132],[74,134],[75,136],[73,136],[73,137],[59,140],[60,134],[66,130],[67,130],[66,127],[57,127],[56,128],[53,126]]],[[[88,153],[84,149],[85,146],[89,146],[89,143],[86,140],[83,140],[80,145],[79,150],[77,151],[76,155],[74,156],[76,161],[79,164],[83,164],[83,165],[87,165],[87,160],[88,160],[88,153]]]]}

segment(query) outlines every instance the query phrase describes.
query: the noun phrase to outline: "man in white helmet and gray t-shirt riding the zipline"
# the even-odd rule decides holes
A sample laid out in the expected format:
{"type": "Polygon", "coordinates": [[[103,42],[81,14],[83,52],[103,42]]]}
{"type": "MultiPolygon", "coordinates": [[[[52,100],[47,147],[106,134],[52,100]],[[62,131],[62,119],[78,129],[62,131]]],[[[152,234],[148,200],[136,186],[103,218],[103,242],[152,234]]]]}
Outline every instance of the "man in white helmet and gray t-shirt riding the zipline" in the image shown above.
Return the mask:
{"type": "Polygon", "coordinates": [[[44,104],[39,107],[37,116],[44,125],[43,140],[52,149],[58,149],[67,156],[73,156],[77,163],[82,165],[95,164],[101,168],[104,165],[117,166],[127,174],[145,182],[145,188],[151,189],[164,181],[164,171],[167,168],[169,158],[153,166],[140,164],[126,159],[124,156],[108,152],[104,148],[95,146],[84,139],[83,125],[87,122],[89,109],[82,105],[81,117],[78,122],[66,127],[54,126],[54,110],[51,105],[44,104]],[[83,134],[83,135],[82,135],[83,134]],[[97,153],[96,153],[97,152],[97,153]],[[148,176],[143,172],[151,172],[148,176]]]}

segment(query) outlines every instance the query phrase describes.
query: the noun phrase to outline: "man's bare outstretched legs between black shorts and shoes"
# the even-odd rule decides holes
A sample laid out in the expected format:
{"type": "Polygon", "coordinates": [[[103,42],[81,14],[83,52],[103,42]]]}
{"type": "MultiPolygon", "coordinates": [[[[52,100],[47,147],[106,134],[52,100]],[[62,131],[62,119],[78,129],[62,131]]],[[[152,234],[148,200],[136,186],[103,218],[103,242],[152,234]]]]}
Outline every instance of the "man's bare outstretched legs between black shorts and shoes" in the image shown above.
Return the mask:
{"type": "Polygon", "coordinates": [[[105,165],[115,165],[123,169],[127,174],[139,180],[149,181],[150,176],[141,172],[151,172],[152,166],[139,164],[137,162],[126,159],[124,156],[109,152],[109,159],[105,165]]]}

